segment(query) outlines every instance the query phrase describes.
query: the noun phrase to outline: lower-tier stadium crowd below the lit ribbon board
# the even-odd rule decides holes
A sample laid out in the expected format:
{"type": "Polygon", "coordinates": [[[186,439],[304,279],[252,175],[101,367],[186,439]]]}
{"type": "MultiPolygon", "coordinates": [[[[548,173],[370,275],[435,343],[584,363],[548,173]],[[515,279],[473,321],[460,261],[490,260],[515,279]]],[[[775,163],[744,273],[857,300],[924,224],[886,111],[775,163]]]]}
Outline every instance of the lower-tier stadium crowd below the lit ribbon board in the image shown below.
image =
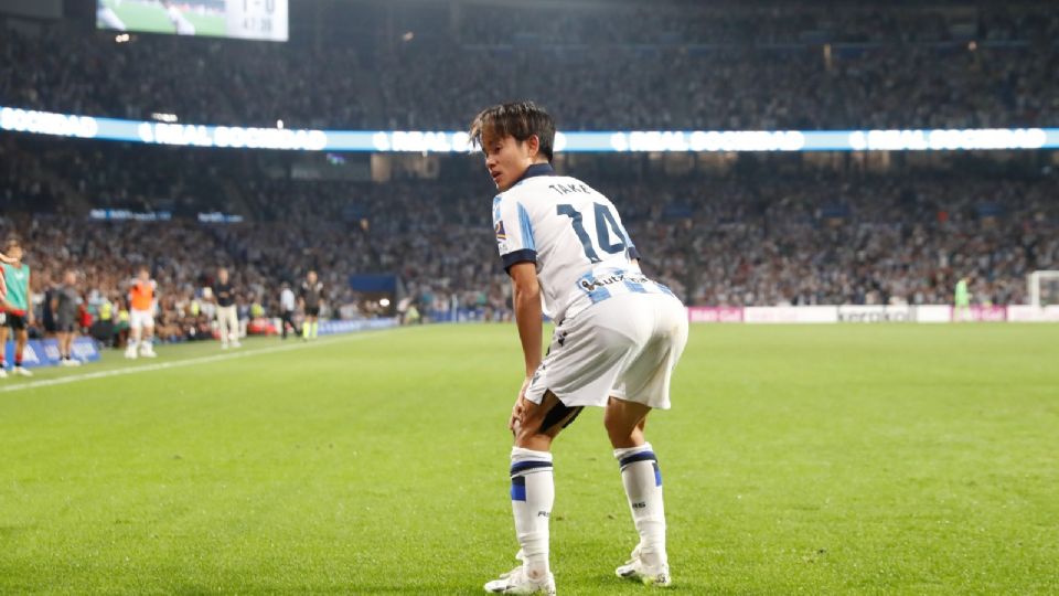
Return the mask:
{"type": "MultiPolygon", "coordinates": [[[[19,143],[3,147],[20,152],[19,143]]],[[[208,171],[216,151],[180,153],[174,159],[188,160],[189,171],[208,171]]],[[[100,187],[103,195],[126,184],[115,173],[126,169],[121,159],[65,163],[47,170],[53,184],[113,180],[115,187],[100,187]]],[[[272,312],[279,284],[300,280],[309,268],[341,290],[335,311],[363,309],[346,289],[349,275],[378,273],[395,274],[424,312],[452,305],[505,309],[510,290],[494,254],[493,191],[484,174],[373,183],[270,179],[227,166],[235,169],[210,178],[231,191],[232,204],[256,214],[243,223],[179,215],[93,221],[69,215],[73,210],[49,213],[41,203],[38,214],[8,215],[0,237],[24,240],[41,288],[66,267],[83,270],[89,304],[119,301],[122,283],[142,263],[154,272],[161,296],[186,312],[222,265],[232,268],[244,302],[272,312]]],[[[156,170],[162,187],[181,175],[156,170]]],[[[43,182],[25,172],[14,177],[28,178],[43,182]]],[[[644,268],[692,305],[948,304],[964,275],[974,277],[978,302],[1019,304],[1028,273],[1059,268],[1055,173],[584,178],[619,206],[644,268]]],[[[167,206],[146,201],[142,212],[167,206]]]]}

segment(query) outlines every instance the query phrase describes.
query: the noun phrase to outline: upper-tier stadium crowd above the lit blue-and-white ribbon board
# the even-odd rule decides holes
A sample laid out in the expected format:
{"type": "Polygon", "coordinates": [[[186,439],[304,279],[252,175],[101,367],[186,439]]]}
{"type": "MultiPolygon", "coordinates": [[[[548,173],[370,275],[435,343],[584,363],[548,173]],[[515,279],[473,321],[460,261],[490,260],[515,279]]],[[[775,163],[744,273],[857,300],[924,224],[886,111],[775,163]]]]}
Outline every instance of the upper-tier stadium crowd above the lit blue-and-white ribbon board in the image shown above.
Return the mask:
{"type": "Polygon", "coordinates": [[[1059,15],[1044,6],[661,7],[439,8],[434,23],[418,8],[367,11],[368,42],[332,32],[324,45],[116,43],[38,23],[0,35],[0,105],[341,129],[462,129],[475,107],[511,97],[549,98],[571,130],[1055,124],[1059,15]]]}

